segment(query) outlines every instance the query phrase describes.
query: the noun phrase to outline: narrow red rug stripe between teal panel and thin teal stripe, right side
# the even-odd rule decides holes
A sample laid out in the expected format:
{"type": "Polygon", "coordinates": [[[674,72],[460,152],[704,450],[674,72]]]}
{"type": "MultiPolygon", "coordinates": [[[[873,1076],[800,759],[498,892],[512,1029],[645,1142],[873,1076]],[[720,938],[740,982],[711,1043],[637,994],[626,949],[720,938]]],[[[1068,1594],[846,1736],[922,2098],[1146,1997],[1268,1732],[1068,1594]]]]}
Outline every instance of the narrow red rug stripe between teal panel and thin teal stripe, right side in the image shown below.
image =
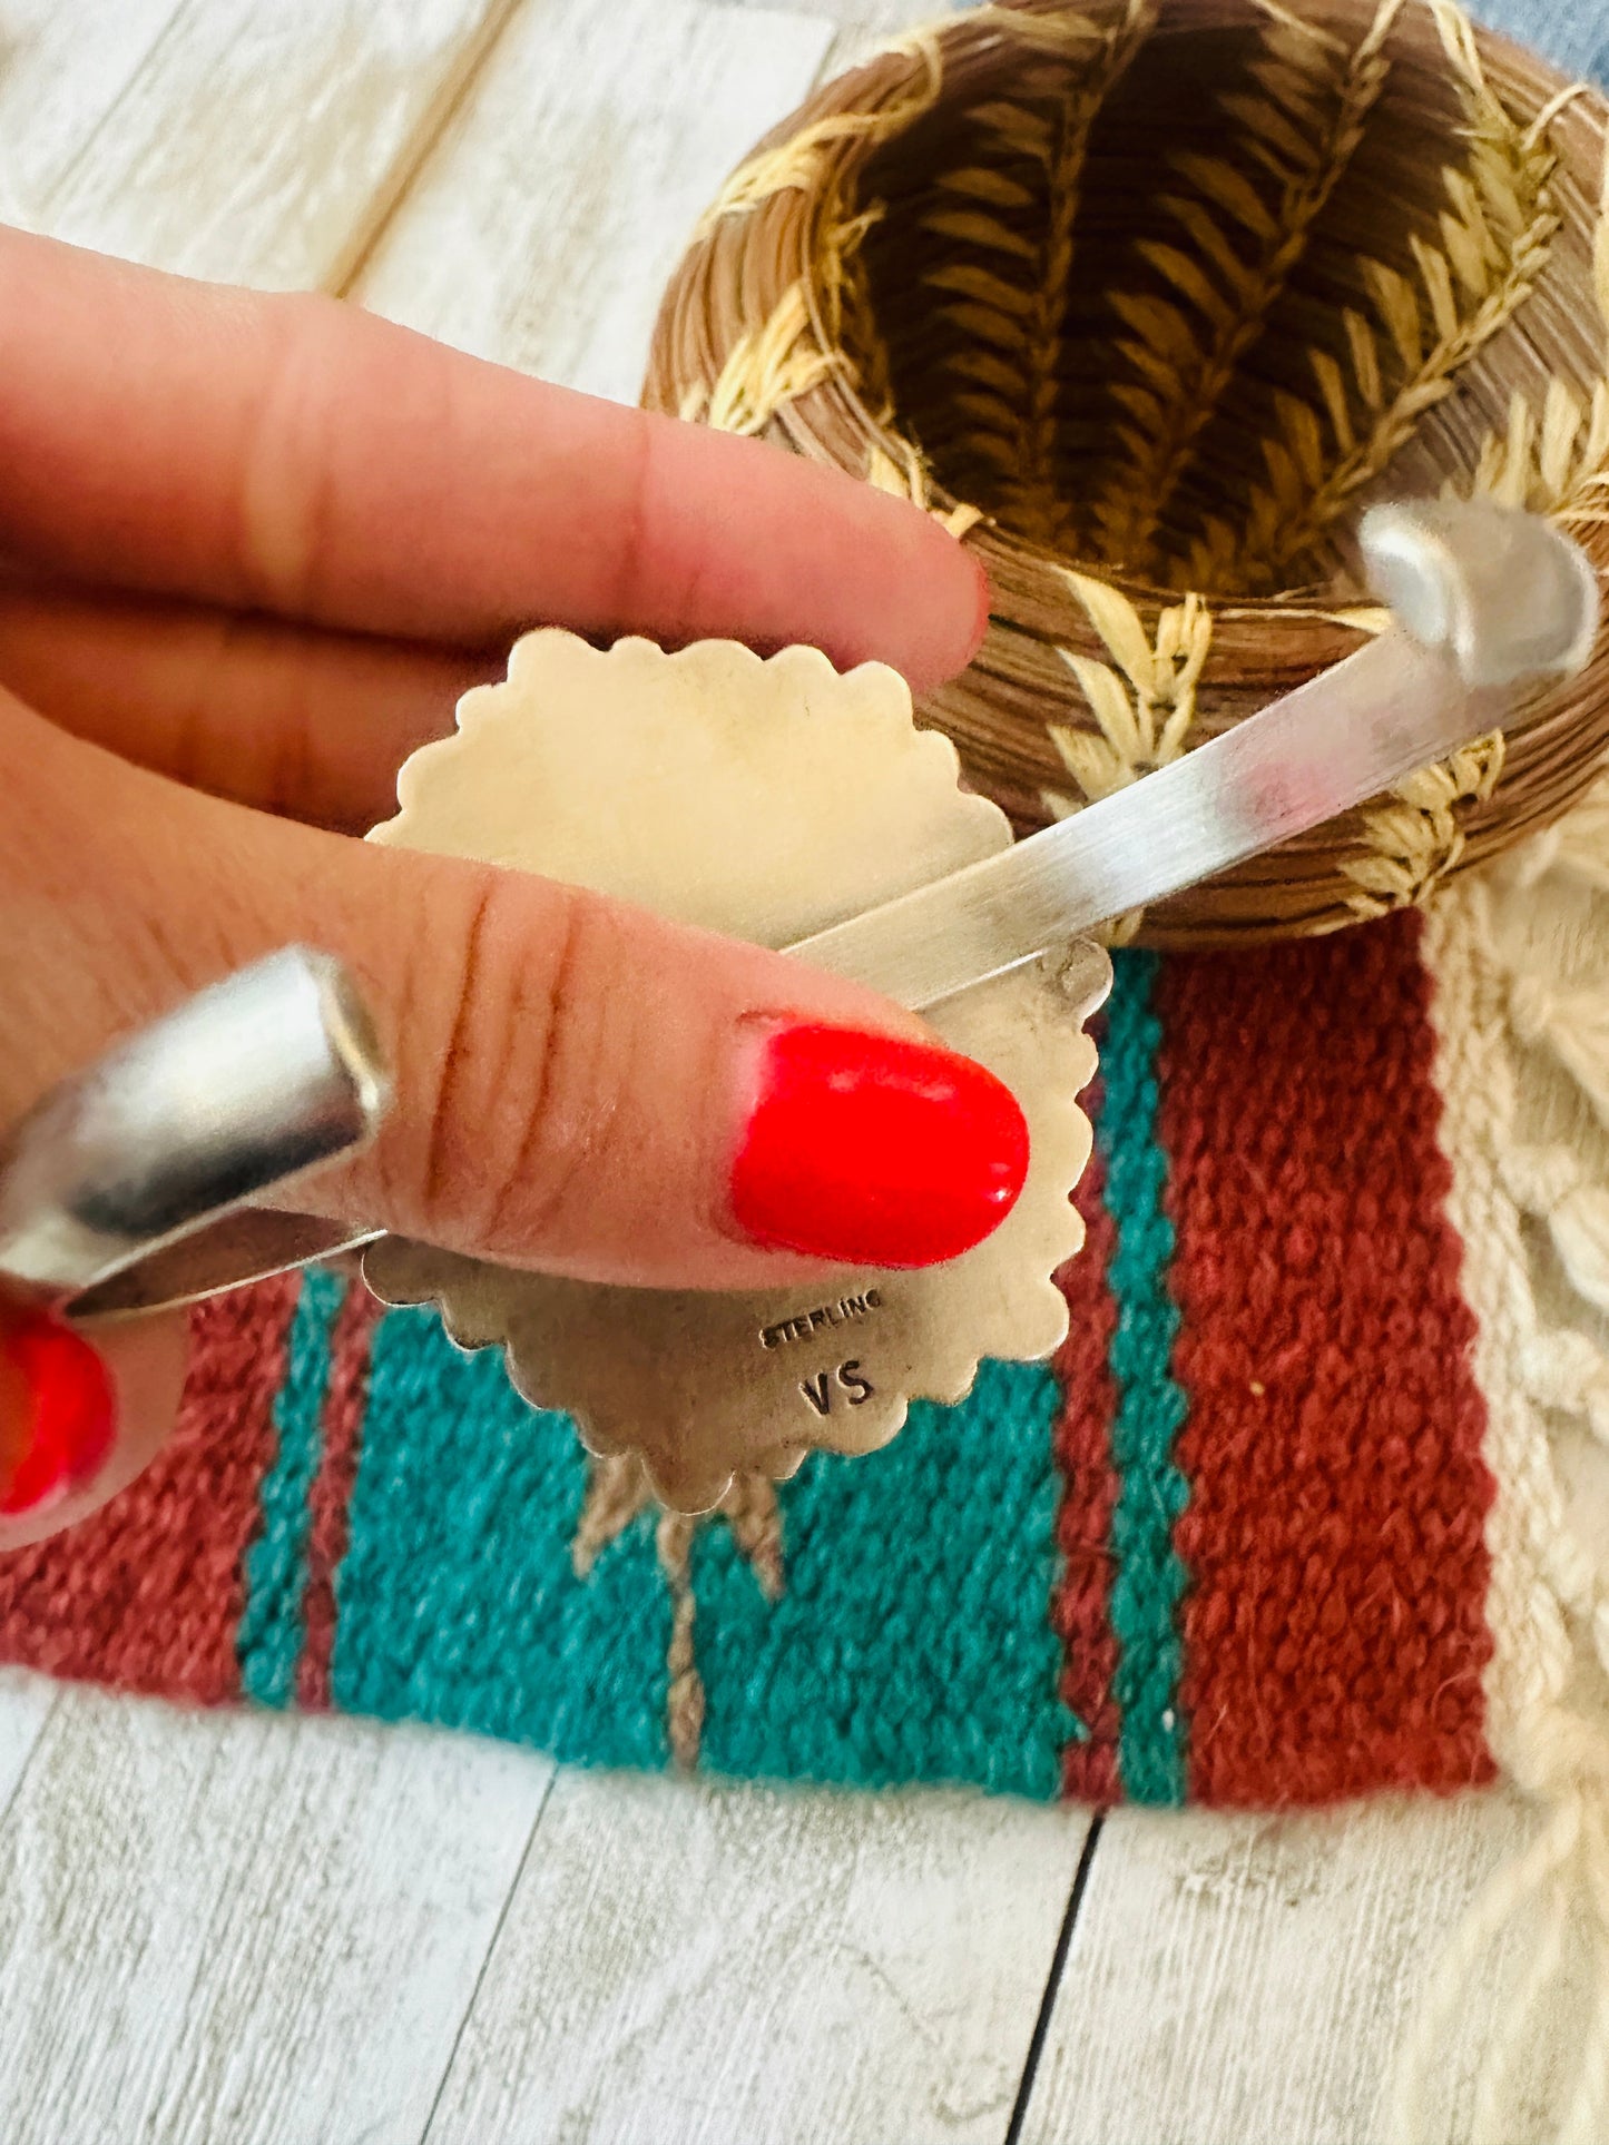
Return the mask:
{"type": "MultiPolygon", "coordinates": [[[[1101,1096],[1086,1096],[1092,1115],[1101,1096]]],[[[1118,1643],[1107,1617],[1111,1592],[1111,1510],[1118,1502],[1118,1474],[1111,1465],[1111,1418],[1118,1405],[1107,1369],[1116,1306],[1107,1289],[1107,1266],[1116,1229],[1105,1208],[1105,1169],[1101,1156],[1077,1188],[1077,1210],[1083,1216],[1086,1240],[1077,1259],[1060,1272],[1073,1323],[1056,1358],[1064,1405],[1056,1424],[1056,1465],[1062,1471],[1062,1508],[1056,1517],[1056,1544],[1062,1551],[1062,1583],[1051,1600],[1051,1624],[1066,1650],[1062,1699],[1088,1729],[1083,1742],[1071,1742],[1062,1759],[1062,1793],[1075,1802],[1116,1802],[1118,1780],[1118,1705],[1111,1677],[1118,1669],[1118,1643]]]]}

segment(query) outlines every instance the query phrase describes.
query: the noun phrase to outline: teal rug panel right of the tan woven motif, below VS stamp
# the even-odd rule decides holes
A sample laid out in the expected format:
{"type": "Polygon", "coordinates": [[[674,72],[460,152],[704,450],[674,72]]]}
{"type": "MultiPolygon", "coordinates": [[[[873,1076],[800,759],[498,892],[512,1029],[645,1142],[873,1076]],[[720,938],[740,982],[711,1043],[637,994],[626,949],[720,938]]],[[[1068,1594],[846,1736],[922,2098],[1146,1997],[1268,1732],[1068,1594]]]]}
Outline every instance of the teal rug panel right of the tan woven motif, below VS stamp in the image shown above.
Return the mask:
{"type": "Polygon", "coordinates": [[[772,1780],[985,1787],[1051,1802],[1083,1725],[1062,1703],[1056,1416],[1045,1364],[987,1362],[858,1461],[777,1497],[766,1600],[725,1525],[693,1544],[704,1765],[772,1780]]]}

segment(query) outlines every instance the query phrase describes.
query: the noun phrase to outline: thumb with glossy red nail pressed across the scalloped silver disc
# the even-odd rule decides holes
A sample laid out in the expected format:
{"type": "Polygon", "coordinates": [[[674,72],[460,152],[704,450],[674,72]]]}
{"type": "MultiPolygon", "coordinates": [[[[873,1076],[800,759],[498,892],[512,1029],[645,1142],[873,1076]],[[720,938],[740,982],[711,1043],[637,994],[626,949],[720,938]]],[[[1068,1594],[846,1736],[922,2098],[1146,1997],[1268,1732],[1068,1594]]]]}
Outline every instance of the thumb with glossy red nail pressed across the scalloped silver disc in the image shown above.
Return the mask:
{"type": "Polygon", "coordinates": [[[764,1287],[796,1270],[779,1251],[955,1257],[1021,1188],[1010,1094],[869,991],[202,798],[19,704],[0,719],[13,1113],[129,1021],[302,940],[350,963],[399,1096],[371,1154],[298,1195],[320,1212],[599,1281],[764,1287]]]}

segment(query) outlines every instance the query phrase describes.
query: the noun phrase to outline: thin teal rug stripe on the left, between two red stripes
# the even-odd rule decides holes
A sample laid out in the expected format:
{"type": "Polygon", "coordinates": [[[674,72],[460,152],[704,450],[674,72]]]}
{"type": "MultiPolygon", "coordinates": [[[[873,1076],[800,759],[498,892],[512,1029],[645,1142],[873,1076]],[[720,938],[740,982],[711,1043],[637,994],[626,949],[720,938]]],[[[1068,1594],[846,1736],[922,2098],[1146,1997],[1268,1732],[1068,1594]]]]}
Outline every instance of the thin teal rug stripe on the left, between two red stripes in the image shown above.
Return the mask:
{"type": "Polygon", "coordinates": [[[290,1705],[296,1697],[311,1525],[307,1493],[324,1444],[330,1328],[343,1298],[339,1274],[309,1270],[290,1326],[290,1366],[275,1401],[279,1452],[262,1478],[262,1532],[247,1551],[247,1604],[236,1634],[240,1686],[260,1705],[290,1705]]]}

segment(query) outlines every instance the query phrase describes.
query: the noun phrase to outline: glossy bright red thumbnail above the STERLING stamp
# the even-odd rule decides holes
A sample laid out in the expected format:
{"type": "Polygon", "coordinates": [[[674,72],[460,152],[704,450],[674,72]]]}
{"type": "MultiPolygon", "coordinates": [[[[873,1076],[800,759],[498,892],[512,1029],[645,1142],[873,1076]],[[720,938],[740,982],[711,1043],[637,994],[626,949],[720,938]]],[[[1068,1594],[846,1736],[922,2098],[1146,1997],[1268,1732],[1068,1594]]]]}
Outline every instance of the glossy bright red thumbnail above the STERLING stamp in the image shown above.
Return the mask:
{"type": "Polygon", "coordinates": [[[757,1244],[845,1266],[938,1266],[1010,1214],[1028,1124],[993,1072],[850,1027],[781,1027],[732,1171],[757,1244]]]}

